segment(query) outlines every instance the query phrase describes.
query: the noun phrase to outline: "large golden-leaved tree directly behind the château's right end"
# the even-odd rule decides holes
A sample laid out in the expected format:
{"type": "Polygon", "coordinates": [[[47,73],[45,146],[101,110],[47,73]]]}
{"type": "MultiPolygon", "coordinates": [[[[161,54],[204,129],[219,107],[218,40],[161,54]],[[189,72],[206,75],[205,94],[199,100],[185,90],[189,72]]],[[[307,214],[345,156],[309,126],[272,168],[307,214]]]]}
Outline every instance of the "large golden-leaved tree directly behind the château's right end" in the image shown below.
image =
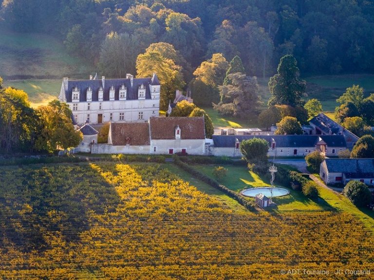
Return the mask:
{"type": "Polygon", "coordinates": [[[161,110],[166,110],[169,100],[174,100],[175,90],[182,89],[185,85],[181,67],[159,52],[146,51],[139,54],[136,59],[136,71],[139,77],[151,77],[153,73],[157,74],[161,83],[161,110]]]}

